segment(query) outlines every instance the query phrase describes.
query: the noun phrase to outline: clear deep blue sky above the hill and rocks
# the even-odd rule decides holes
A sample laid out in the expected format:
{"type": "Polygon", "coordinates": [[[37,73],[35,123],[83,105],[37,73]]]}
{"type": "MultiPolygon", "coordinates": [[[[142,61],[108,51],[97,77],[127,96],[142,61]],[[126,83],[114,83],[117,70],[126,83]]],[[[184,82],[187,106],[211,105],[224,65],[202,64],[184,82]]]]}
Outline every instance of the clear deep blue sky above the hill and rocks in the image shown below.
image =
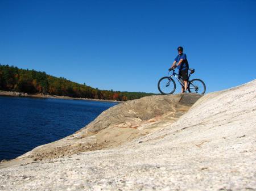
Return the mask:
{"type": "Polygon", "coordinates": [[[0,36],[0,63],[104,90],[158,93],[180,45],[207,92],[256,78],[254,0],[0,0],[0,36]]]}

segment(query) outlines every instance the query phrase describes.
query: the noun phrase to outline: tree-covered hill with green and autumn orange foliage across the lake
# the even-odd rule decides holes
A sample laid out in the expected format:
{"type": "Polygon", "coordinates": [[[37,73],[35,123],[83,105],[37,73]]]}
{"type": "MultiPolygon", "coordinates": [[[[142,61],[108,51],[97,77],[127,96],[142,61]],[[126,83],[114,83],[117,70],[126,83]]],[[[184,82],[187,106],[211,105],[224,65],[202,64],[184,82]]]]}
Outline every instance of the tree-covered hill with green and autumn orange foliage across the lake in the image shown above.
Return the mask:
{"type": "Polygon", "coordinates": [[[0,90],[119,101],[154,95],[144,92],[98,90],[98,88],[71,82],[65,78],[53,77],[45,72],[18,69],[18,67],[1,64],[0,90]]]}

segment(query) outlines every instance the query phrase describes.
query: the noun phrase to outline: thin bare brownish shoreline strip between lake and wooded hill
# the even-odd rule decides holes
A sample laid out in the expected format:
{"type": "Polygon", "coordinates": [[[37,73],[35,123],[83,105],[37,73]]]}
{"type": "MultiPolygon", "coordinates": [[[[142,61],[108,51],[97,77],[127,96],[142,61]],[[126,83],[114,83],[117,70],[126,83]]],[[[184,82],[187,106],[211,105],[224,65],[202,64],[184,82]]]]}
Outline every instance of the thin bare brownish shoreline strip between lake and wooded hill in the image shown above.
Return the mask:
{"type": "Polygon", "coordinates": [[[114,102],[114,103],[123,102],[123,101],[117,101],[117,100],[90,99],[90,98],[82,98],[82,97],[77,98],[77,97],[58,96],[58,95],[27,94],[23,92],[2,91],[2,90],[0,90],[0,96],[53,98],[53,99],[67,99],[67,100],[88,100],[88,101],[101,101],[101,102],[114,102]]]}

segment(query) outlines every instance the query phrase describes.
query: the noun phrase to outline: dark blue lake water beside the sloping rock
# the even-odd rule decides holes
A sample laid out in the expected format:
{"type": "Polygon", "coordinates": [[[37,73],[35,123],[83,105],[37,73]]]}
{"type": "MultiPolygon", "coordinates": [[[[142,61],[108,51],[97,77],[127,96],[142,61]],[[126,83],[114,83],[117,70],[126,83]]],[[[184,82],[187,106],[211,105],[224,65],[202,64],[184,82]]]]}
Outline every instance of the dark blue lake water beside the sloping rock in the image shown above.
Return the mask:
{"type": "Polygon", "coordinates": [[[67,137],[116,104],[0,96],[0,160],[67,137]]]}

